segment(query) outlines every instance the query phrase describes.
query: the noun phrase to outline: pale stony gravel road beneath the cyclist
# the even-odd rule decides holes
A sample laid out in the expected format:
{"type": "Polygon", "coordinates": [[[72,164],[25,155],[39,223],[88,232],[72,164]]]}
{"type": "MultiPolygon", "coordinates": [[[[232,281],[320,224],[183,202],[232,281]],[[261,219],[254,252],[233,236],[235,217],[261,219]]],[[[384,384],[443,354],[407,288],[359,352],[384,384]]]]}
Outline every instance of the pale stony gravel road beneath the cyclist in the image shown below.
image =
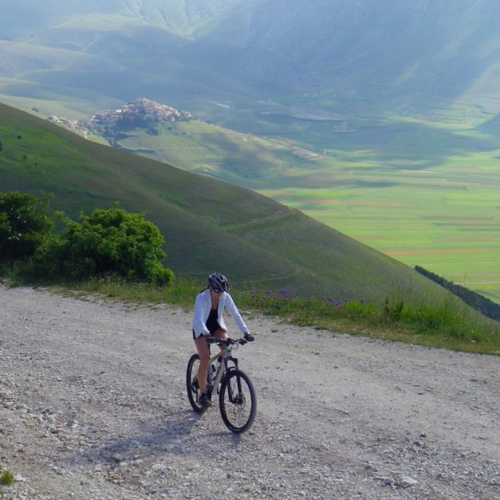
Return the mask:
{"type": "Polygon", "coordinates": [[[0,498],[500,498],[500,357],[242,312],[235,435],[189,406],[191,311],[0,286],[0,498]]]}

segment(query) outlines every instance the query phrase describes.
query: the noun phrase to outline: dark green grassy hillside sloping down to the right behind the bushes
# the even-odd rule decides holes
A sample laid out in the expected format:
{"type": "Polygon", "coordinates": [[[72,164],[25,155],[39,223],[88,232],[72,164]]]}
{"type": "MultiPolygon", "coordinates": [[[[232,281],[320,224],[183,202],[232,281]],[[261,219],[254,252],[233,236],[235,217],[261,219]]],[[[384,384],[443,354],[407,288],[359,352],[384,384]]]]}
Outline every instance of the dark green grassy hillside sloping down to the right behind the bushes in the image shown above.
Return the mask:
{"type": "Polygon", "coordinates": [[[144,211],[165,236],[166,264],[199,277],[214,269],[337,298],[382,300],[395,288],[438,289],[410,267],[270,198],[102,146],[0,105],[1,190],[53,192],[73,217],[115,200],[144,211]]]}

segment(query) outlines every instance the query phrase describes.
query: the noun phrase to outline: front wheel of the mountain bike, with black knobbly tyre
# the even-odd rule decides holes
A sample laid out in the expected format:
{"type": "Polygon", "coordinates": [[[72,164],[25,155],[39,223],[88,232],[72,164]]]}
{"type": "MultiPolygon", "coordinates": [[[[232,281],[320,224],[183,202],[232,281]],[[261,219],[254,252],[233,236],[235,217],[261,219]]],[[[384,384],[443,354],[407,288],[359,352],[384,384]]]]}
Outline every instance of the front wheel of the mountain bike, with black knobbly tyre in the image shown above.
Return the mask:
{"type": "Polygon", "coordinates": [[[219,407],[222,420],[230,431],[239,433],[251,427],[257,412],[257,396],[244,371],[232,369],[223,378],[219,407]]]}

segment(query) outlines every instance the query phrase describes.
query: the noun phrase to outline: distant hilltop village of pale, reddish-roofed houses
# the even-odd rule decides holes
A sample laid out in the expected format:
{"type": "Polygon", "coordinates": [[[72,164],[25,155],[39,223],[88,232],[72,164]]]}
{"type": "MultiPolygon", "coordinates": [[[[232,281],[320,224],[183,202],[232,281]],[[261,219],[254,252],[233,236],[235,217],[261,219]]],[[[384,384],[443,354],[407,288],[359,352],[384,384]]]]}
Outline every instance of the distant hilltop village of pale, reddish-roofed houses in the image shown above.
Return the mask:
{"type": "Polygon", "coordinates": [[[90,118],[70,120],[61,116],[50,115],[47,120],[70,130],[81,130],[84,133],[89,133],[102,127],[147,127],[161,122],[174,122],[192,117],[192,114],[188,111],[179,111],[171,106],[141,97],[118,109],[96,113],[90,118]]]}

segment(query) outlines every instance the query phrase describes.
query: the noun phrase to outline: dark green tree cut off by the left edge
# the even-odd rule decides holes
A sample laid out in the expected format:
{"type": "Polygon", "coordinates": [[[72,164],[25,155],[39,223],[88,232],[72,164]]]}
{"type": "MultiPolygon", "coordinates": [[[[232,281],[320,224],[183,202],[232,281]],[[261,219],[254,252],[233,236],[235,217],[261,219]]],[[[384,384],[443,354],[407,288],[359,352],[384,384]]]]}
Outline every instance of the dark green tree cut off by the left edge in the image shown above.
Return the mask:
{"type": "Polygon", "coordinates": [[[19,191],[0,193],[0,261],[26,260],[48,238],[52,195],[19,191]]]}

